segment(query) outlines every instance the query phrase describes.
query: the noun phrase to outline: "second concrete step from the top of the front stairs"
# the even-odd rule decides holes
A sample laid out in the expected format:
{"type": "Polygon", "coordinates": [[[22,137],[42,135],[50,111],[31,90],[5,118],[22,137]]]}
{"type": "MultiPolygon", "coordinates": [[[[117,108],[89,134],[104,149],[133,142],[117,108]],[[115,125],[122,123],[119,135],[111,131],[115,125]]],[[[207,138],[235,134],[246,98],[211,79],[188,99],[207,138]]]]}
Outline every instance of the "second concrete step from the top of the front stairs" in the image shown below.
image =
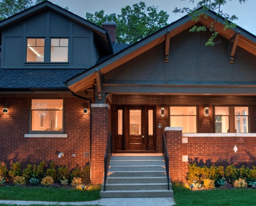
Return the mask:
{"type": "Polygon", "coordinates": [[[111,160],[110,166],[113,165],[164,165],[163,160],[111,160]]]}

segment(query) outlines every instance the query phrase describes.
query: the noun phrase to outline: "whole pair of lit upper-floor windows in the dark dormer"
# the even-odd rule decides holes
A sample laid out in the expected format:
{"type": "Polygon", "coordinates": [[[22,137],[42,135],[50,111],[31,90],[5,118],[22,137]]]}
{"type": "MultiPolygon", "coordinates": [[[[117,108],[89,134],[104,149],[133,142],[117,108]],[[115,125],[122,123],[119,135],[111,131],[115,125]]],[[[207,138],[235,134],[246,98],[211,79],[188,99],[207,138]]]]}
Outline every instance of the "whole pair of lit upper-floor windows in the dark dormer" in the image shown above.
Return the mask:
{"type": "Polygon", "coordinates": [[[27,38],[26,47],[26,62],[68,62],[68,38],[27,38]]]}

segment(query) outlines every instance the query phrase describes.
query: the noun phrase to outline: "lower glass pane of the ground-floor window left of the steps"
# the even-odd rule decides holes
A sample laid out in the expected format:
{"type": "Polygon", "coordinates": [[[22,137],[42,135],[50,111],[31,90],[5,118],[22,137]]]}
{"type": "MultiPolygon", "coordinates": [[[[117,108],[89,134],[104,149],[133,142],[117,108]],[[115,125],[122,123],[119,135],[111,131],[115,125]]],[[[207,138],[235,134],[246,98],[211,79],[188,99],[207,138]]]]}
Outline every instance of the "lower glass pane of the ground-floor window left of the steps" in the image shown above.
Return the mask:
{"type": "Polygon", "coordinates": [[[62,131],[63,110],[33,110],[33,131],[62,131]]]}

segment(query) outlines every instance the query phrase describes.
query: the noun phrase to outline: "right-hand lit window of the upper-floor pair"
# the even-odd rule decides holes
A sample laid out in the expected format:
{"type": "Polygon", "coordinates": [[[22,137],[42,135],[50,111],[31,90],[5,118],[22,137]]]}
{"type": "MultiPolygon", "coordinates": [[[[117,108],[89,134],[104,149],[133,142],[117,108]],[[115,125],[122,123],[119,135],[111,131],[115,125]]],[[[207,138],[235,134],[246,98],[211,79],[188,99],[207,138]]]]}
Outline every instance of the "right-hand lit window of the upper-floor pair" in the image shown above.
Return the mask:
{"type": "Polygon", "coordinates": [[[68,61],[68,39],[51,39],[51,62],[68,61]]]}

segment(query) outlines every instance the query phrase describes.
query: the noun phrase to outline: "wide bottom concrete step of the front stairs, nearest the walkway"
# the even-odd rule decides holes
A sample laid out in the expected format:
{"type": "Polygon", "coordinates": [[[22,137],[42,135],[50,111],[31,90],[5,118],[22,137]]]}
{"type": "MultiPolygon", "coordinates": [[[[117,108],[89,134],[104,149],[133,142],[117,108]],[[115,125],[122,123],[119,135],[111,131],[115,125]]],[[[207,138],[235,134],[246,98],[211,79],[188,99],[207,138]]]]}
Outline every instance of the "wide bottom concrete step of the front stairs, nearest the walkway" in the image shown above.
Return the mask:
{"type": "Polygon", "coordinates": [[[121,190],[121,191],[101,191],[101,198],[118,197],[173,197],[172,190],[121,190]]]}

